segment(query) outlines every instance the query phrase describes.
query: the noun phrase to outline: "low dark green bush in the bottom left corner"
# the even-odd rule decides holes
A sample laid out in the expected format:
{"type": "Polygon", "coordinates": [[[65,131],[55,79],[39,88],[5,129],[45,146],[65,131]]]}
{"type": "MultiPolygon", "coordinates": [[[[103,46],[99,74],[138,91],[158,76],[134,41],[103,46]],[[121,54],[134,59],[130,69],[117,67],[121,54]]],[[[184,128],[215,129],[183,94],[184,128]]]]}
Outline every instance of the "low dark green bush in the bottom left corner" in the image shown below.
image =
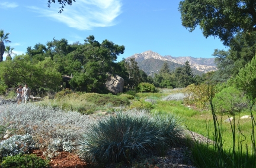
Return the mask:
{"type": "Polygon", "coordinates": [[[16,156],[4,157],[1,166],[2,168],[42,168],[50,167],[50,161],[43,160],[35,154],[18,154],[16,156]]]}

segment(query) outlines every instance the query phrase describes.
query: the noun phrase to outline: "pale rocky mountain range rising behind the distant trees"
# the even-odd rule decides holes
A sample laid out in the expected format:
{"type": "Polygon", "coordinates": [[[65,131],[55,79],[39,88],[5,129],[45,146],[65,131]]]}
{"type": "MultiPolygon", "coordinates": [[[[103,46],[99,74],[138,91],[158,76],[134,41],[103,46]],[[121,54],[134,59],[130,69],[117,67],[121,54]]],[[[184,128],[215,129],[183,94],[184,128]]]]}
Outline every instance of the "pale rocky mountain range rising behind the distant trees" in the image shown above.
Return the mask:
{"type": "Polygon", "coordinates": [[[215,58],[194,58],[194,57],[172,57],[171,55],[162,56],[151,50],[140,54],[133,54],[127,57],[126,60],[135,58],[140,70],[143,70],[148,75],[158,73],[164,62],[167,62],[171,71],[177,67],[184,65],[185,61],[190,62],[190,67],[194,74],[201,75],[209,71],[216,71],[215,58]]]}

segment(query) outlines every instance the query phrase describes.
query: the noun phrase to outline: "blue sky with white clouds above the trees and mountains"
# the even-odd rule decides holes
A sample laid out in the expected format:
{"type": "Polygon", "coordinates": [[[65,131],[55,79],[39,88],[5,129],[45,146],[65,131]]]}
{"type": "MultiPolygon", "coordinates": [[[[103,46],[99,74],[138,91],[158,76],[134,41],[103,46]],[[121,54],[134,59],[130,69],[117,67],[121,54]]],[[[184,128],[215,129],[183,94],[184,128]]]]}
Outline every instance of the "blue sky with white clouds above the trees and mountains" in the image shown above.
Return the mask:
{"type": "MultiPolygon", "coordinates": [[[[47,0],[0,0],[0,29],[9,32],[16,54],[27,47],[65,38],[84,43],[89,35],[126,47],[121,58],[147,50],[173,57],[212,58],[213,51],[226,50],[218,38],[203,37],[200,28],[189,32],[181,25],[180,0],[76,0],[59,14],[59,4],[47,0]]],[[[4,58],[5,60],[5,58],[4,58]]]]}

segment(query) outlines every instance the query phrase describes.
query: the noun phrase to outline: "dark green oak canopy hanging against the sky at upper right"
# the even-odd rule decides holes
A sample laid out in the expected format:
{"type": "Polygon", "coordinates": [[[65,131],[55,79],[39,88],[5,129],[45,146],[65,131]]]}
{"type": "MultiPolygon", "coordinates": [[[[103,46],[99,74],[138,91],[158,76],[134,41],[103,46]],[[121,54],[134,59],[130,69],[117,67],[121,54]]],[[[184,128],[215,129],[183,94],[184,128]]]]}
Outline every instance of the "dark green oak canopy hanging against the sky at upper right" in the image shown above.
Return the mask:
{"type": "Polygon", "coordinates": [[[200,26],[204,37],[219,37],[225,45],[238,32],[256,31],[254,0],[183,0],[178,9],[185,28],[200,26]]]}

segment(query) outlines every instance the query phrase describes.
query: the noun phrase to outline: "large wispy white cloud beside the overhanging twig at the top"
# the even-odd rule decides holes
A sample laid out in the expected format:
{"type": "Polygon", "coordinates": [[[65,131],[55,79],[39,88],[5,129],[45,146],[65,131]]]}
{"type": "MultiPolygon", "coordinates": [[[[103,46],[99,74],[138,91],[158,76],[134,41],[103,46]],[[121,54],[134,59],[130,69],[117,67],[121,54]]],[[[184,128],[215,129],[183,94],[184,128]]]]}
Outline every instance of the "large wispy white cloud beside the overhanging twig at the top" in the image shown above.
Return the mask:
{"type": "Polygon", "coordinates": [[[53,5],[48,9],[36,6],[28,8],[41,17],[49,17],[68,27],[84,30],[115,25],[115,19],[121,14],[121,0],[80,0],[73,2],[72,6],[66,6],[62,14],[53,5]]]}

